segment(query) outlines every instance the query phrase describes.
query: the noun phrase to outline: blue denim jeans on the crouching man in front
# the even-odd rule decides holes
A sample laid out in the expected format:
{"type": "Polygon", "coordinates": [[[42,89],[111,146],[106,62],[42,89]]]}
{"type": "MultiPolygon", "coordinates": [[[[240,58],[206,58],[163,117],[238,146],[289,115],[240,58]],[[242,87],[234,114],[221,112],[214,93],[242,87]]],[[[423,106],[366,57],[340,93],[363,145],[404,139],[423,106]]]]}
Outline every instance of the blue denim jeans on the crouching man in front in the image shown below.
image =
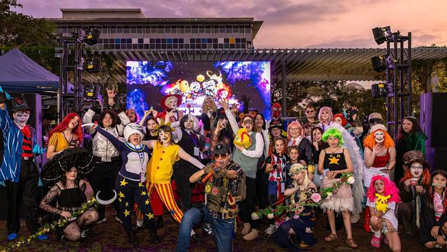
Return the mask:
{"type": "Polygon", "coordinates": [[[231,240],[235,227],[235,219],[223,220],[212,218],[207,207],[202,207],[201,209],[193,207],[184,213],[182,222],[180,223],[179,236],[177,238],[177,252],[187,251],[191,229],[193,229],[193,226],[200,221],[209,222],[211,224],[217,244],[217,251],[231,251],[231,240]],[[201,211],[204,215],[203,220],[201,211]]]}

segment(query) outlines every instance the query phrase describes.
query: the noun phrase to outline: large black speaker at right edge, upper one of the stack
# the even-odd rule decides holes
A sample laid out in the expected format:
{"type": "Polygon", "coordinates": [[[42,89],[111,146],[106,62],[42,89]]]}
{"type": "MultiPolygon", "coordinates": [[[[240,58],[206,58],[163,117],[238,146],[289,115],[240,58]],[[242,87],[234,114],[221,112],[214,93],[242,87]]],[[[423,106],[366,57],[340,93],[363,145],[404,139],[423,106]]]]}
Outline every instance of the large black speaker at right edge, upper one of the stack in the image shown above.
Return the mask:
{"type": "Polygon", "coordinates": [[[426,93],[421,95],[419,116],[422,130],[427,134],[427,147],[446,147],[447,93],[426,93]]]}

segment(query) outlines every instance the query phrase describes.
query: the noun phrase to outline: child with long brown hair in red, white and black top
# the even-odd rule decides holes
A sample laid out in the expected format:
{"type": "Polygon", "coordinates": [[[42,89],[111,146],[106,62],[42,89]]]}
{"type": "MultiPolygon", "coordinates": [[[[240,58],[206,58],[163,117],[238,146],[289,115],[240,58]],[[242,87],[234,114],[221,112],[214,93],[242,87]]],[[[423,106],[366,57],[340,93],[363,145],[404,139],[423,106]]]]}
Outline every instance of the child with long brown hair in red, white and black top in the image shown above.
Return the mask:
{"type": "MultiPolygon", "coordinates": [[[[265,159],[265,174],[268,174],[268,204],[275,204],[276,201],[284,198],[285,182],[287,180],[287,174],[285,169],[285,162],[287,156],[285,156],[285,145],[283,138],[275,138],[274,151],[265,159]],[[280,190],[279,190],[280,189],[280,190]]],[[[278,204],[283,204],[279,202],[278,204]]],[[[278,224],[276,220],[276,224],[278,224]]],[[[272,234],[275,229],[275,222],[270,222],[270,227],[265,229],[265,233],[272,234]]]]}

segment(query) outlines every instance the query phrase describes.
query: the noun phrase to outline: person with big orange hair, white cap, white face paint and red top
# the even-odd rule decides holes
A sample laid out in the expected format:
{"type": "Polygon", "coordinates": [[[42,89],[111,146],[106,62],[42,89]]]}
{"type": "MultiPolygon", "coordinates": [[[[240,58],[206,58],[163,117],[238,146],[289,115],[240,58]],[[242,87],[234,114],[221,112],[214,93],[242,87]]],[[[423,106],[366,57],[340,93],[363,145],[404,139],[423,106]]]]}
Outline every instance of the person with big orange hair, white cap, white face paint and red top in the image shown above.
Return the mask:
{"type": "MultiPolygon", "coordinates": [[[[364,187],[369,188],[371,178],[376,175],[390,178],[389,174],[394,168],[396,154],[393,138],[386,132],[386,127],[376,124],[371,127],[370,133],[363,140],[364,145],[364,187]]],[[[364,209],[363,228],[369,229],[369,208],[364,209]]]]}

